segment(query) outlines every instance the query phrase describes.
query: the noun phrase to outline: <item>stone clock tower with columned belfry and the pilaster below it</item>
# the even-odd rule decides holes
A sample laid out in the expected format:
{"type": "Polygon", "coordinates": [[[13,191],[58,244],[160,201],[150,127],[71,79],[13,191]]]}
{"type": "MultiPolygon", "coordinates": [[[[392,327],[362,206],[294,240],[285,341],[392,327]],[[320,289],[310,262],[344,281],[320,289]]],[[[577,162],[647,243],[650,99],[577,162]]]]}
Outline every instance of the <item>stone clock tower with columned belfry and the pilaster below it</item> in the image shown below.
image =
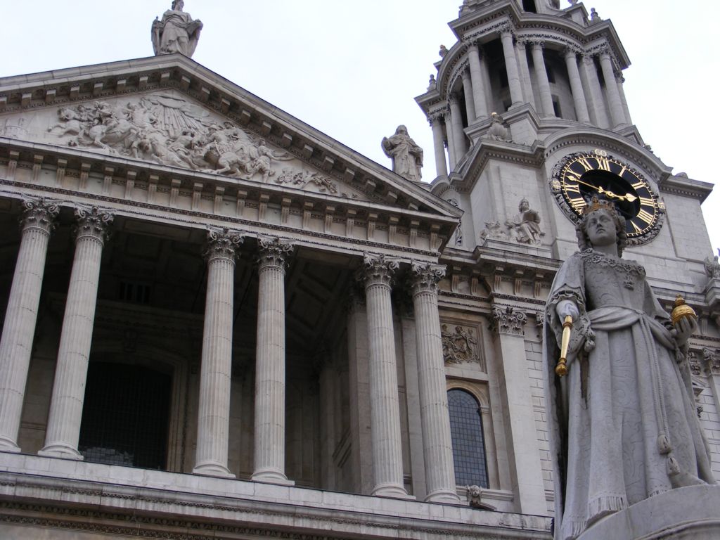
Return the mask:
{"type": "MultiPolygon", "coordinates": [[[[500,389],[516,508],[552,512],[541,332],[527,327],[542,327],[549,286],[577,251],[575,225],[592,197],[625,217],[625,258],[644,266],[663,307],[683,294],[697,308],[693,388],[698,407],[708,404],[701,423],[718,428],[708,412],[720,407],[720,377],[705,359],[720,342],[720,282],[701,214],[712,186],[672,174],[644,143],[623,89],[629,56],[594,9],[464,0],[449,26],[457,42],[441,46],[436,73],[415,98],[433,133],[431,189],[464,212],[442,257],[449,294],[462,293],[454,284],[464,275],[487,287],[480,310],[496,323],[488,373],[500,389]]],[[[441,320],[456,305],[441,302],[441,320]]]]}

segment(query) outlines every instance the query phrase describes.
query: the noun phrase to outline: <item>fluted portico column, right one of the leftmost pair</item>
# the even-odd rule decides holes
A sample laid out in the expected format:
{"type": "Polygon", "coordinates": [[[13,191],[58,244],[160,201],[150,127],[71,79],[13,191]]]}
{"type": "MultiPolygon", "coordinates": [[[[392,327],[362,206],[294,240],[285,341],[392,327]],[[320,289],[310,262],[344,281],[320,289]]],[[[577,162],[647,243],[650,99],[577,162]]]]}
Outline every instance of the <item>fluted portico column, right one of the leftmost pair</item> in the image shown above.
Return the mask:
{"type": "Polygon", "coordinates": [[[78,452],[78,440],[95,320],[100,259],[114,216],[98,207],[77,207],[75,217],[78,220],[75,256],[65,303],[63,330],[60,332],[53,399],[50,401],[45,447],[38,454],[83,459],[78,452]]]}

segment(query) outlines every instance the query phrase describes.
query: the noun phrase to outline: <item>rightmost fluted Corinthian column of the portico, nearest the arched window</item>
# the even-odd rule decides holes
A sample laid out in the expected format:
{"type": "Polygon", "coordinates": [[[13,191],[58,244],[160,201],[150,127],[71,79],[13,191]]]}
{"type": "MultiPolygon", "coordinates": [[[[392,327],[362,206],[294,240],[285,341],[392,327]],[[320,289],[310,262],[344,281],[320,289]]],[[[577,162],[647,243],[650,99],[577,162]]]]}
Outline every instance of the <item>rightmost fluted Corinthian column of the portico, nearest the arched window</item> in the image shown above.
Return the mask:
{"type": "Polygon", "coordinates": [[[420,422],[428,495],[433,503],[459,503],[455,488],[448,395],[438,314],[438,282],[445,267],[413,264],[413,307],[418,345],[420,422]]]}

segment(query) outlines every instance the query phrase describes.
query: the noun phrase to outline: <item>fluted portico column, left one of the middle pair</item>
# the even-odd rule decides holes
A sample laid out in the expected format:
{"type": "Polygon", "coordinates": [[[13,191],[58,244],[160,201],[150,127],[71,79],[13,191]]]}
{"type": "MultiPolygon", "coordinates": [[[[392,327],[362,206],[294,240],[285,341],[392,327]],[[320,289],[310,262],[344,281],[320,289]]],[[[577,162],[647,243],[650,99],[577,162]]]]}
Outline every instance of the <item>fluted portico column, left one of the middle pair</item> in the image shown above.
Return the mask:
{"type": "Polygon", "coordinates": [[[202,330],[200,401],[197,414],[197,474],[235,477],[228,469],[230,372],[233,363],[233,285],[235,249],[243,237],[235,231],[207,231],[207,294],[202,330]]]}

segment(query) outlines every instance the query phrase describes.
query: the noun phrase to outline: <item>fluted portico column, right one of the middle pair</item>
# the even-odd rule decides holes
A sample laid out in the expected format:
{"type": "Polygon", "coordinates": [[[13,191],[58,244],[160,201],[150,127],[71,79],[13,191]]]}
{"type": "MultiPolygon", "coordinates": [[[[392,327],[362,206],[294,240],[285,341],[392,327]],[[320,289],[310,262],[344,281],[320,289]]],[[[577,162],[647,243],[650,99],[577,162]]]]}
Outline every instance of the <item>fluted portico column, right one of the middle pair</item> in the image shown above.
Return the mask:
{"type": "Polygon", "coordinates": [[[278,238],[258,242],[253,480],[292,484],[285,476],[285,266],[293,246],[278,238]]]}

